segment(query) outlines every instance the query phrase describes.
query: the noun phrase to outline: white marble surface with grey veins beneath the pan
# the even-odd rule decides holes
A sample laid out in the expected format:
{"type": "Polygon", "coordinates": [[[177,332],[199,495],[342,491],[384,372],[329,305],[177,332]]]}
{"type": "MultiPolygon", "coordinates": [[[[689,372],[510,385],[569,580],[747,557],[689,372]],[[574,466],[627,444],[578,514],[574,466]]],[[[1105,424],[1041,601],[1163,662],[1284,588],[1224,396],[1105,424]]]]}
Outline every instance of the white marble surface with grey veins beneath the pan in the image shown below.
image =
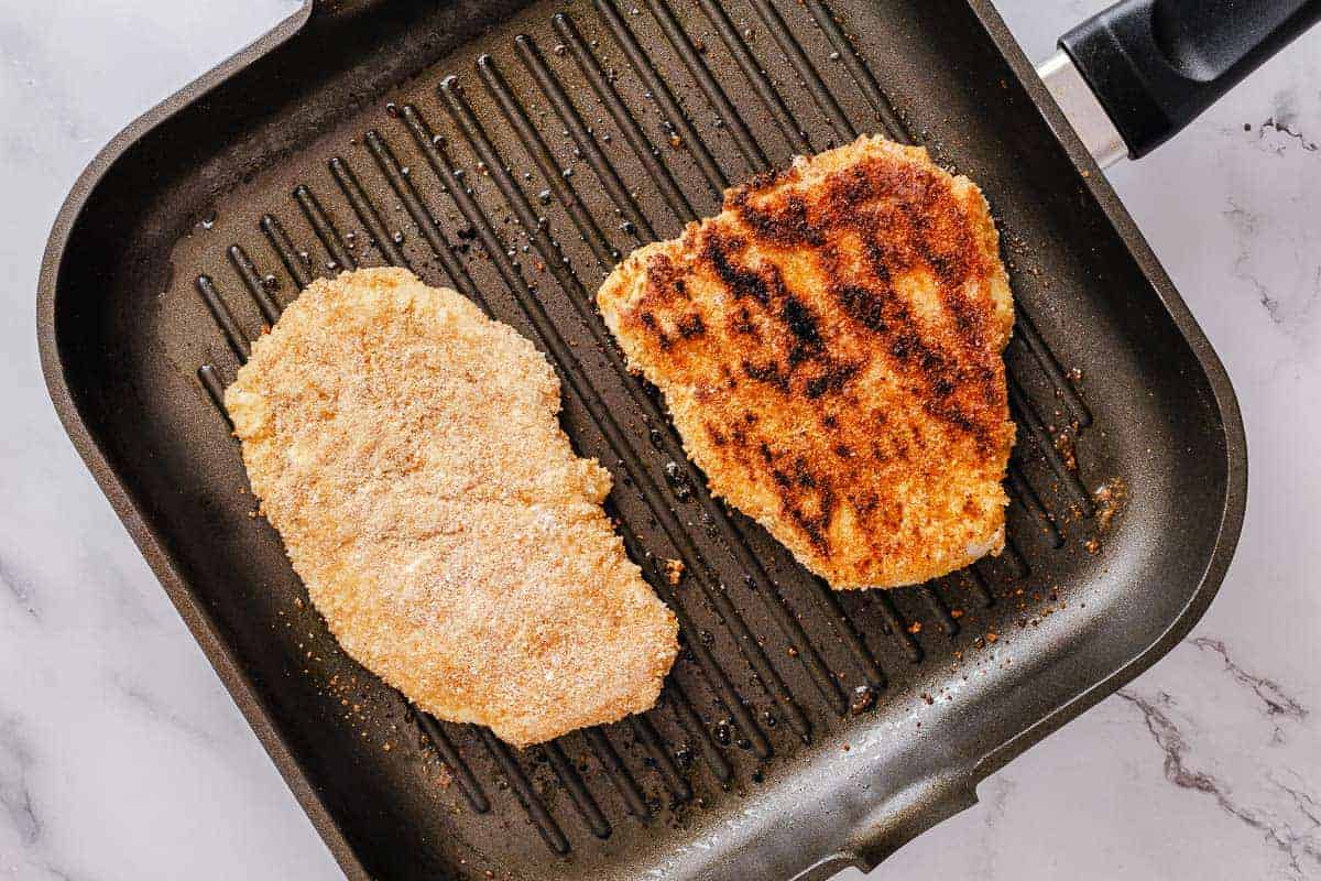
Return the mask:
{"type": "MultiPolygon", "coordinates": [[[[1100,5],[1001,3],[1038,58],[1100,5]]],[[[339,877],[65,439],[33,335],[87,160],[295,8],[0,0],[0,878],[339,877]]],[[[1321,877],[1317,83],[1321,32],[1111,173],[1242,400],[1248,515],[1219,598],[876,877],[1321,877]]]]}

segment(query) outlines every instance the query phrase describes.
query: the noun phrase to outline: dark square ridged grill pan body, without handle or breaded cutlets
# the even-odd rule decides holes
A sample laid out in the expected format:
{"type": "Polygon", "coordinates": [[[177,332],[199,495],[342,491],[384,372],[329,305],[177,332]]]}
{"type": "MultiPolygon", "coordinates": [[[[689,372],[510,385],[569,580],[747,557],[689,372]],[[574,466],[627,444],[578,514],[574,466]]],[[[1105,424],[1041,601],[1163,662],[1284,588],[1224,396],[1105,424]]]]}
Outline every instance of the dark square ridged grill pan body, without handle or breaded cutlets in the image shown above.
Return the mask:
{"type": "Polygon", "coordinates": [[[1230,383],[988,3],[635,3],[309,1],[120,135],[50,239],[55,407],[351,878],[868,869],[1168,651],[1238,538],[1230,383]],[[987,193],[1020,440],[1001,557],[836,594],[712,502],[590,296],[729,182],[867,131],[987,193]],[[300,287],[382,264],[556,363],[680,614],[654,711],[526,752],[419,716],[251,515],[223,386],[300,287]]]}

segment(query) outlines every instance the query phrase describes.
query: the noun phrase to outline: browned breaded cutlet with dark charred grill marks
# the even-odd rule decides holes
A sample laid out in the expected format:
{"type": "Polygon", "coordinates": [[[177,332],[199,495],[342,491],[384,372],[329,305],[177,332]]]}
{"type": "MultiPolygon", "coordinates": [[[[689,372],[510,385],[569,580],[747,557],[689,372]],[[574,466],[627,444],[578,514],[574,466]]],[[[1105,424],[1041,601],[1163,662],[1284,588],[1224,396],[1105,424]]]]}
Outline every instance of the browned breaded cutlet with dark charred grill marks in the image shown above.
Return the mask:
{"type": "Polygon", "coordinates": [[[688,456],[835,588],[1004,547],[1013,301],[980,190],[860,137],[725,193],[597,296],[688,456]]]}

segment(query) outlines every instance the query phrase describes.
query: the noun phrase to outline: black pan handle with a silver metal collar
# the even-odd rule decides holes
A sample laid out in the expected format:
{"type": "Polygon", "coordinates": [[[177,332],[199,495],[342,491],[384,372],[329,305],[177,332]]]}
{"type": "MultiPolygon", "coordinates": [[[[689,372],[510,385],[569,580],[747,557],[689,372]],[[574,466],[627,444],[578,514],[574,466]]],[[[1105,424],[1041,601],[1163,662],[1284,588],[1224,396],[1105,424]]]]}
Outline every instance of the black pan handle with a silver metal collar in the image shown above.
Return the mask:
{"type": "Polygon", "coordinates": [[[1037,71],[1102,166],[1140,159],[1321,20],[1321,0],[1122,0],[1037,71]]]}

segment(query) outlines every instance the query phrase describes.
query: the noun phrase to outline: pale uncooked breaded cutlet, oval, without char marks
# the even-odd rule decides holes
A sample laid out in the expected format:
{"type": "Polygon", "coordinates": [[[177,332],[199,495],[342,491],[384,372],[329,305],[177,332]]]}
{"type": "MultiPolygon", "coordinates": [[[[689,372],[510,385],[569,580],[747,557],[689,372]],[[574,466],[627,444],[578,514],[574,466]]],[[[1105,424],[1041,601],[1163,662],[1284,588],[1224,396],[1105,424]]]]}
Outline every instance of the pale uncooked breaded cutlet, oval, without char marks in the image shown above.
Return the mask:
{"type": "Polygon", "coordinates": [[[513,328],[404,269],[313,283],[225,394],[252,491],[343,650],[527,745],[650,708],[674,614],[513,328]]]}

